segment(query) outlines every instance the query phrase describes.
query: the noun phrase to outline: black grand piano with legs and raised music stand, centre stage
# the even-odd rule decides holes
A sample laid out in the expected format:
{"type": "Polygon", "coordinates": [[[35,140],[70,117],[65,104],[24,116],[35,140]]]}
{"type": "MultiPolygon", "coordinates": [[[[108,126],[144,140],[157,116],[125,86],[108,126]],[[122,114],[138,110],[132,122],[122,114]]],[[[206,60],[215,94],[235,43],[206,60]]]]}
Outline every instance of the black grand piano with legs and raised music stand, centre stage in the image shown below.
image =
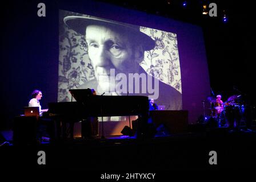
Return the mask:
{"type": "MultiPolygon", "coordinates": [[[[79,122],[88,117],[138,115],[137,138],[146,135],[149,98],[146,96],[94,96],[91,89],[70,89],[71,102],[50,102],[45,117],[62,123],[79,122]],[[73,101],[73,97],[75,101],[73,101]]],[[[103,124],[103,123],[102,123],[103,124]]],[[[65,126],[65,125],[64,125],[65,126]]],[[[58,134],[57,134],[58,135],[58,134]]],[[[73,138],[73,127],[70,128],[73,138]]]]}

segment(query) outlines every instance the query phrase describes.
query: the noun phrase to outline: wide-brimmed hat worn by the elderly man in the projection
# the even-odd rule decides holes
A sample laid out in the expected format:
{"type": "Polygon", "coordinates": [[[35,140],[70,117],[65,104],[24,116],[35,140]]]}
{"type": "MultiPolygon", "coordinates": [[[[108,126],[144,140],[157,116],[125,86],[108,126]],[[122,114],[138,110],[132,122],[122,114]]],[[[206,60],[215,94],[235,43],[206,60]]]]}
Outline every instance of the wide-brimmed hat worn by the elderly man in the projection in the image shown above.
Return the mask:
{"type": "Polygon", "coordinates": [[[155,41],[150,36],[141,32],[139,26],[134,26],[132,24],[119,23],[113,20],[95,18],[92,16],[66,16],[63,21],[69,28],[81,35],[85,35],[86,27],[89,25],[122,28],[123,33],[133,36],[134,40],[137,40],[142,44],[145,51],[155,47],[155,41]]]}

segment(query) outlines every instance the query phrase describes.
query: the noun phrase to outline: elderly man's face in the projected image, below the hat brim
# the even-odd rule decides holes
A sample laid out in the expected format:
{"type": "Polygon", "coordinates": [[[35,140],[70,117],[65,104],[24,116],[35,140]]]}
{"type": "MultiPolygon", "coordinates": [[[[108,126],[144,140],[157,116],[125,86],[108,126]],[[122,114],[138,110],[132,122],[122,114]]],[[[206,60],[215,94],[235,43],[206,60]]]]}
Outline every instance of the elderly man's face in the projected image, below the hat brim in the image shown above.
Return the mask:
{"type": "Polygon", "coordinates": [[[110,69],[115,69],[115,75],[138,72],[134,48],[129,38],[122,33],[108,27],[92,25],[86,28],[86,42],[102,92],[109,92],[110,69]]]}

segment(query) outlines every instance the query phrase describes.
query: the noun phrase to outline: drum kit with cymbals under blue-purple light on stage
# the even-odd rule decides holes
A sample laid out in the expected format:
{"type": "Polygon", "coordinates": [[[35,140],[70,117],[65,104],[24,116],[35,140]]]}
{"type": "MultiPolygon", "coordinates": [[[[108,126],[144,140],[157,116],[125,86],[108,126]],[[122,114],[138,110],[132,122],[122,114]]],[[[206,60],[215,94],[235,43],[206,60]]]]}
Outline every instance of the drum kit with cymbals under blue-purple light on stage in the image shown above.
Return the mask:
{"type": "Polygon", "coordinates": [[[230,115],[234,116],[235,120],[240,120],[243,117],[244,106],[241,95],[233,95],[227,98],[226,102],[218,102],[216,97],[207,97],[208,111],[205,114],[205,103],[203,109],[205,118],[214,118],[218,122],[219,127],[229,125],[230,115]]]}

